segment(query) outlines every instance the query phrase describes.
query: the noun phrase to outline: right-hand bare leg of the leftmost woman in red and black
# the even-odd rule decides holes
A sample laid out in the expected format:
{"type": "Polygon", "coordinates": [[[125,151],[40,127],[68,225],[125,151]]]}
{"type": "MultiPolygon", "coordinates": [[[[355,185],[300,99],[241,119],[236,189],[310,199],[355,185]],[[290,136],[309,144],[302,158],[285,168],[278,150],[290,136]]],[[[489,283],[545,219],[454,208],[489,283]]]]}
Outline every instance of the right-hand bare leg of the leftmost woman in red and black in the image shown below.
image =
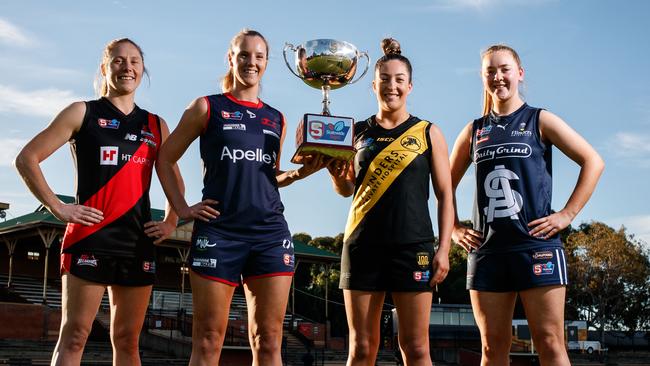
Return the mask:
{"type": "Polygon", "coordinates": [[[152,286],[109,286],[113,365],[140,365],[139,338],[152,286]]]}

